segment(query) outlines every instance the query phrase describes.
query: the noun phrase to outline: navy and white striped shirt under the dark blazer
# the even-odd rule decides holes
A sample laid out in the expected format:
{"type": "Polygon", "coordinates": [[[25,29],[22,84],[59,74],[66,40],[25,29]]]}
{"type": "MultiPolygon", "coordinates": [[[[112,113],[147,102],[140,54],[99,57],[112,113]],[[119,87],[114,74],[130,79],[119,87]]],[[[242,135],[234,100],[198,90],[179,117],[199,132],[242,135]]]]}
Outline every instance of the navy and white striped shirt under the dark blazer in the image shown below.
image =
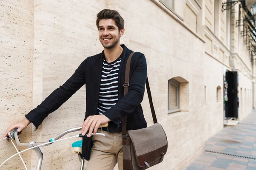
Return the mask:
{"type": "Polygon", "coordinates": [[[97,111],[99,114],[107,111],[118,102],[118,72],[121,56],[108,63],[103,59],[102,77],[100,80],[99,101],[97,111]]]}

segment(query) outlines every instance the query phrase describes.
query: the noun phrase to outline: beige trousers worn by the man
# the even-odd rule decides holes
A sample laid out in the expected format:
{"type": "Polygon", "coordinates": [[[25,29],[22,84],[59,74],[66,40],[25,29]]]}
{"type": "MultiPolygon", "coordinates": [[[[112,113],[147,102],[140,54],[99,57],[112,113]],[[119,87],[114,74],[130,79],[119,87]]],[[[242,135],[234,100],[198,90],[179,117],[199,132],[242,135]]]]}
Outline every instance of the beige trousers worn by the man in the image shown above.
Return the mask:
{"type": "Polygon", "coordinates": [[[108,133],[98,130],[106,136],[93,136],[93,147],[90,159],[87,162],[87,170],[113,170],[116,163],[118,169],[123,169],[122,132],[108,133]]]}

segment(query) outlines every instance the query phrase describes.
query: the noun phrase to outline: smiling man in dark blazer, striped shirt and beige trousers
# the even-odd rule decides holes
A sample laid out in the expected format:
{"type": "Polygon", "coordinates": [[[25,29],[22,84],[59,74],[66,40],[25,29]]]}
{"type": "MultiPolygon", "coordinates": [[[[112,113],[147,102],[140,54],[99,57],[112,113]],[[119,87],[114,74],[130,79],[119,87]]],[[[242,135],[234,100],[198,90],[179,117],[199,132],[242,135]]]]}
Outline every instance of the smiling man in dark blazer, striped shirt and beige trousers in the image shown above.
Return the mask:
{"type": "MultiPolygon", "coordinates": [[[[26,114],[22,121],[8,127],[7,132],[19,127],[25,129],[31,122],[38,128],[43,120],[57,110],[76,91],[86,84],[86,111],[82,124],[84,159],[87,170],[113,170],[118,162],[122,170],[122,119],[127,116],[127,130],[147,127],[140,103],[143,100],[147,65],[144,54],[136,52],[131,59],[129,91],[124,96],[125,66],[133,52],[120,45],[124,35],[124,20],[115,10],[104,9],[97,14],[96,25],[104,50],[85,59],[75,73],[52,92],[37,108],[26,114]],[[99,125],[108,127],[98,129],[99,125]],[[92,136],[92,133],[106,136],[92,136]]],[[[78,120],[79,121],[79,120],[78,120]]]]}

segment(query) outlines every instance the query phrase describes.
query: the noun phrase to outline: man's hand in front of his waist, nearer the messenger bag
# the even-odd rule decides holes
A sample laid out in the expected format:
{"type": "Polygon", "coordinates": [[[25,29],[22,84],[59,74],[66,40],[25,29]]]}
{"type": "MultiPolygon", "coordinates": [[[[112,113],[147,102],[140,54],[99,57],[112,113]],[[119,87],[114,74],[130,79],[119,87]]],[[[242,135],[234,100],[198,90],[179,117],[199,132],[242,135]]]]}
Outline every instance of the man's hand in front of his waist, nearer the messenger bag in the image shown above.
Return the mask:
{"type": "Polygon", "coordinates": [[[82,136],[84,136],[88,131],[88,129],[90,129],[87,135],[87,137],[90,137],[92,133],[95,134],[97,132],[99,125],[104,125],[108,122],[110,122],[110,119],[108,119],[103,114],[87,117],[87,119],[84,121],[82,125],[82,129],[81,129],[82,136]]]}

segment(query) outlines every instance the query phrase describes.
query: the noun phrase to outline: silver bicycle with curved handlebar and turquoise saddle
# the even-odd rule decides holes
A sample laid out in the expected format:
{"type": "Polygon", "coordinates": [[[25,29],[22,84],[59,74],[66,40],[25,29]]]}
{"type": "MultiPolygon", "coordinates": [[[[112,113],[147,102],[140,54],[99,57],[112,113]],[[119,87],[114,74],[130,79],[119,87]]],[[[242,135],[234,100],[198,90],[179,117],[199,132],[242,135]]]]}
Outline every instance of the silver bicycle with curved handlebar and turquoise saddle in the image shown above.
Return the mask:
{"type": "MultiPolygon", "coordinates": [[[[107,126],[108,126],[108,124],[105,124],[105,125],[99,126],[99,128],[100,127],[107,127],[107,126]]],[[[34,150],[36,152],[37,156],[38,156],[38,162],[37,162],[36,170],[41,170],[42,161],[43,161],[43,153],[40,150],[39,146],[40,147],[45,147],[45,146],[49,146],[50,144],[54,143],[57,140],[64,140],[64,139],[60,139],[60,138],[65,136],[67,133],[79,131],[79,130],[81,130],[81,128],[82,127],[75,127],[75,128],[67,129],[67,130],[59,133],[57,136],[53,137],[52,139],[50,139],[49,142],[31,141],[31,142],[28,142],[28,143],[21,143],[20,139],[19,139],[19,136],[18,136],[21,132],[17,132],[18,128],[15,128],[15,129],[9,131],[8,136],[9,136],[10,139],[15,140],[16,144],[18,146],[23,146],[23,147],[28,146],[30,148],[33,147],[32,150],[34,150]]],[[[95,133],[95,134],[92,133],[92,136],[98,136],[98,135],[105,137],[105,134],[103,134],[103,133],[95,133]]],[[[85,134],[84,136],[87,136],[87,134],[85,134]]],[[[79,135],[72,136],[72,137],[65,138],[65,139],[70,139],[70,138],[73,138],[73,137],[83,137],[83,136],[81,134],[79,134],[79,135]]],[[[25,151],[25,150],[23,150],[23,151],[25,151]]],[[[21,151],[21,152],[23,152],[23,151],[21,151]]],[[[80,170],[84,170],[84,161],[85,161],[85,159],[82,156],[82,140],[73,142],[72,147],[71,147],[71,153],[78,154],[79,161],[81,161],[80,170]]],[[[15,155],[13,155],[13,156],[15,156],[15,155]]],[[[12,157],[10,157],[10,158],[12,158],[12,157]]],[[[7,160],[9,160],[9,159],[7,159],[7,160]]]]}

